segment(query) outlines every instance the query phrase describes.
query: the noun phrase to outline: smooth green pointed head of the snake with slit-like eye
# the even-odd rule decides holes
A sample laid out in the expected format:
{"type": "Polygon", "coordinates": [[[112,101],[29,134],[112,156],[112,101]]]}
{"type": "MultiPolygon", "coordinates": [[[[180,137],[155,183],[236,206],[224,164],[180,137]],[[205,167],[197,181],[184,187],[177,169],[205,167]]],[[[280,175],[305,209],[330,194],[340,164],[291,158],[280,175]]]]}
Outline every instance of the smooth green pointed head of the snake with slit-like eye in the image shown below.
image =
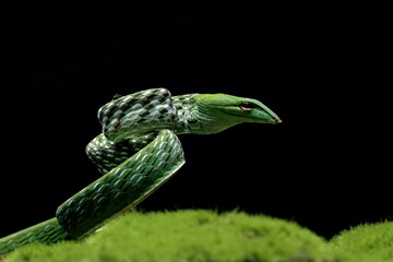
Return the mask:
{"type": "Polygon", "coordinates": [[[269,107],[252,98],[226,94],[199,95],[198,110],[207,119],[209,128],[219,132],[242,122],[279,123],[282,120],[269,107]]]}

